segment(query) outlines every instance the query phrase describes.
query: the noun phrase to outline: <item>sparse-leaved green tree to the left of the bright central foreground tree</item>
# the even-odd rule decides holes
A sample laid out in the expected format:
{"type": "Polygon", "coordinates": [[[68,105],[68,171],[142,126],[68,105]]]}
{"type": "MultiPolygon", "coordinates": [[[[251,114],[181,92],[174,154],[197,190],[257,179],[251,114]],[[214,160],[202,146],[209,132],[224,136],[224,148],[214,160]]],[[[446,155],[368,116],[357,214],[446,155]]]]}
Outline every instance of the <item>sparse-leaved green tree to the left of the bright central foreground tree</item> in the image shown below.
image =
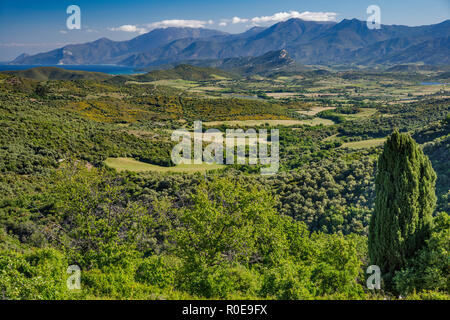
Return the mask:
{"type": "Polygon", "coordinates": [[[105,171],[79,167],[68,175],[70,170],[57,173],[59,182],[51,190],[59,221],[48,237],[84,269],[128,265],[149,250],[154,223],[147,210],[129,201],[105,171]]]}

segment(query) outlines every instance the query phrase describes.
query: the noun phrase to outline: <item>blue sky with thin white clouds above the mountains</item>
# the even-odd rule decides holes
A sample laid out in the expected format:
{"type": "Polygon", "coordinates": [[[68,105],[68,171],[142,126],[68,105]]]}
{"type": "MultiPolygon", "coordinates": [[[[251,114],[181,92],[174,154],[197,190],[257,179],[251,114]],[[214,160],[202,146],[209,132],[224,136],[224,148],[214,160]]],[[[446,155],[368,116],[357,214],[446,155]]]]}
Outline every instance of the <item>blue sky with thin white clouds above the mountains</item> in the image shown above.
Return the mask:
{"type": "Polygon", "coordinates": [[[450,0],[1,0],[0,61],[101,37],[131,39],[165,26],[237,33],[290,17],[365,20],[372,4],[381,8],[382,24],[416,26],[450,19],[450,0]],[[66,28],[66,9],[72,4],[81,9],[81,30],[66,28]]]}

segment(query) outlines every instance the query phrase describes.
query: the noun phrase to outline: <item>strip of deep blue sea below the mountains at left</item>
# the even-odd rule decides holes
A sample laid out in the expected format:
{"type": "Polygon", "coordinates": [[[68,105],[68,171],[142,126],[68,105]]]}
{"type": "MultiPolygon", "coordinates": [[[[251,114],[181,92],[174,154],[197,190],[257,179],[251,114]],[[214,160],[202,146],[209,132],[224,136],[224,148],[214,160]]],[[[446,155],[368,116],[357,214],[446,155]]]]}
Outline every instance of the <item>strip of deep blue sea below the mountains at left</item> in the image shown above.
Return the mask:
{"type": "Polygon", "coordinates": [[[136,70],[133,67],[108,65],[108,64],[87,64],[87,65],[61,65],[61,64],[46,64],[46,65],[8,65],[0,64],[0,71],[17,71],[26,70],[36,67],[57,67],[66,70],[79,70],[79,71],[91,71],[91,72],[103,72],[112,75],[118,74],[140,74],[145,73],[143,71],[136,70]]]}

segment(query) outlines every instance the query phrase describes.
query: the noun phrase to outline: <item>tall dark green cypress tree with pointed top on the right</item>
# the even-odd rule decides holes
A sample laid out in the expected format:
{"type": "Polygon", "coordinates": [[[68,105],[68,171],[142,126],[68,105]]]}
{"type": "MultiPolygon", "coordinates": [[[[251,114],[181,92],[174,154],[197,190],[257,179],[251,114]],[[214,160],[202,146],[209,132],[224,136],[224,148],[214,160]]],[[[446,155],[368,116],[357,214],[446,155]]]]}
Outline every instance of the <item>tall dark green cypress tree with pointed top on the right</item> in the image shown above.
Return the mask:
{"type": "Polygon", "coordinates": [[[394,131],[378,159],[369,226],[369,257],[388,285],[430,236],[435,182],[436,173],[419,145],[409,134],[394,131]]]}

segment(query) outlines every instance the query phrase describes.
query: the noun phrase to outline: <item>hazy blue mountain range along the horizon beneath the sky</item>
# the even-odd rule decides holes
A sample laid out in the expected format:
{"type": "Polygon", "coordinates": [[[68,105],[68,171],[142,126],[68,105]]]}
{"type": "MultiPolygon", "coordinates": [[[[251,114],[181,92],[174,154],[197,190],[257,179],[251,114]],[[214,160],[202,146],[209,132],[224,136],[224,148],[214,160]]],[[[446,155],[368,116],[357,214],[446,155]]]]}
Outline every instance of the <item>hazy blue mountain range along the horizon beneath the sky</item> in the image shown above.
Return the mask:
{"type": "Polygon", "coordinates": [[[280,50],[289,52],[297,64],[306,65],[450,65],[450,20],[427,26],[382,25],[380,29],[369,29],[366,22],[357,19],[339,23],[290,19],[240,34],[205,28],[155,29],[128,41],[101,38],[36,55],[22,54],[11,64],[118,64],[145,68],[197,62],[227,69],[227,64],[235,63],[233,58],[251,60],[280,50]]]}

